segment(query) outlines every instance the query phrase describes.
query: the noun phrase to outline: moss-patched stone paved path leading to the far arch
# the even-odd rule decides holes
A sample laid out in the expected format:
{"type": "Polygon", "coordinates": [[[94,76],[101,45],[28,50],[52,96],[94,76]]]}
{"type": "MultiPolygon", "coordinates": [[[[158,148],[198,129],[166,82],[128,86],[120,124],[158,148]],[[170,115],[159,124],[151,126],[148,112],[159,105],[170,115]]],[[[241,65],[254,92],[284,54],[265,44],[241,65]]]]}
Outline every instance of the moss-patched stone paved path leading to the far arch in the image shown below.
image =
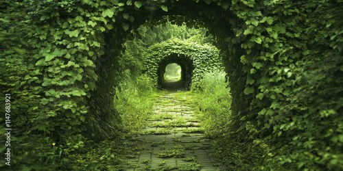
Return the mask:
{"type": "Polygon", "coordinates": [[[192,107],[177,92],[158,97],[148,127],[141,132],[143,150],[125,159],[123,170],[220,170],[211,155],[192,107]]]}

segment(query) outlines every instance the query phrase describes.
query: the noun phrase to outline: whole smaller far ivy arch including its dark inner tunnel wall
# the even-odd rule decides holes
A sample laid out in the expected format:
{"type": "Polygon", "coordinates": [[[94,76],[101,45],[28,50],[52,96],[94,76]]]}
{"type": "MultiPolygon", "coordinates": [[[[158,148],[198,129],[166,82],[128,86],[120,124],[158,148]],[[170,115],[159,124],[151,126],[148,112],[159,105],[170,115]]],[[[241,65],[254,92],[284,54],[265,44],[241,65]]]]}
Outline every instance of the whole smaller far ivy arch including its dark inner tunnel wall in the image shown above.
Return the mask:
{"type": "Polygon", "coordinates": [[[160,87],[163,86],[163,70],[171,62],[178,62],[185,70],[184,79],[191,81],[185,85],[187,88],[190,83],[198,83],[204,73],[224,69],[217,48],[178,38],[152,45],[143,54],[143,58],[145,72],[151,75],[160,87]]]}

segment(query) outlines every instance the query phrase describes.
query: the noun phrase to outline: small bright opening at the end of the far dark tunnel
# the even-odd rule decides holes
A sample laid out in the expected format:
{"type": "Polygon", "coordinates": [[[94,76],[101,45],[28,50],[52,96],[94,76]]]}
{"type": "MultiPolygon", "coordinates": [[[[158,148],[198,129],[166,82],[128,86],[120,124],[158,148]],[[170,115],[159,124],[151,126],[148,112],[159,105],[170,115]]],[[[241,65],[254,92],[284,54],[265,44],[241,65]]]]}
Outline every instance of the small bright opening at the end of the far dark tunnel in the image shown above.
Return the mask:
{"type": "Polygon", "coordinates": [[[182,68],[179,64],[171,63],[165,66],[164,79],[166,83],[182,81],[182,68]]]}

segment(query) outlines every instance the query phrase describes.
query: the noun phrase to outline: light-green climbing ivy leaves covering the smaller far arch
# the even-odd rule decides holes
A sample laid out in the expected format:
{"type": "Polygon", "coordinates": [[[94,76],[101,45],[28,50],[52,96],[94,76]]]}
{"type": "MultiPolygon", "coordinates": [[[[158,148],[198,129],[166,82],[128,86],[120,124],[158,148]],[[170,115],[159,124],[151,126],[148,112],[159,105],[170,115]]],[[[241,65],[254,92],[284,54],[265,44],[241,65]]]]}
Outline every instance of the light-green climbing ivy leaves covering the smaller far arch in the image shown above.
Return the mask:
{"type": "Polygon", "coordinates": [[[188,57],[193,66],[192,84],[200,81],[204,73],[223,70],[222,61],[217,48],[210,44],[198,44],[190,40],[171,38],[165,42],[152,45],[144,53],[145,72],[151,75],[157,82],[158,66],[166,57],[174,55],[175,61],[178,62],[182,57],[188,57]]]}

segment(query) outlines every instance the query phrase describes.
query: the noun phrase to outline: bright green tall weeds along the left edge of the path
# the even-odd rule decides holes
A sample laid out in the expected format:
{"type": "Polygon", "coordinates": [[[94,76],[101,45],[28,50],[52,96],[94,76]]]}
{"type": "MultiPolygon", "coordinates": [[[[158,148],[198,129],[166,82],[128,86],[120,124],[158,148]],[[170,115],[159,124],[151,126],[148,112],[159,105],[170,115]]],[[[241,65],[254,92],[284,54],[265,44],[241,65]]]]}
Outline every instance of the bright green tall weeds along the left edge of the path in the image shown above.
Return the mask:
{"type": "Polygon", "coordinates": [[[147,75],[134,77],[130,70],[126,70],[122,78],[116,88],[114,105],[121,116],[123,129],[133,133],[145,126],[145,120],[151,114],[151,95],[155,88],[152,79],[147,75]]]}

